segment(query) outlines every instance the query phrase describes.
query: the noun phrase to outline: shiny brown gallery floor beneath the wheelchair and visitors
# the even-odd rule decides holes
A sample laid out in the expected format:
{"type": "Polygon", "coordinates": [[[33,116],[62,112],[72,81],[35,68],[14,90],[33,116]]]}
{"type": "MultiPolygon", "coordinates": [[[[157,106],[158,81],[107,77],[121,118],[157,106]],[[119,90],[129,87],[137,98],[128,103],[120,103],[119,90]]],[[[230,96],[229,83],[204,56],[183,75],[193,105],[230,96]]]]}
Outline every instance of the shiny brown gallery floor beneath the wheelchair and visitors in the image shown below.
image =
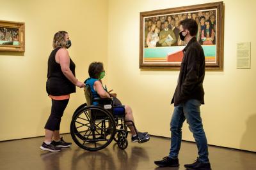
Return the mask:
{"type": "MultiPolygon", "coordinates": [[[[70,134],[63,135],[72,141],[70,134]]],[[[20,139],[0,142],[0,169],[185,169],[184,164],[196,159],[195,143],[182,142],[180,167],[159,168],[154,160],[168,155],[170,140],[151,137],[147,143],[131,143],[126,150],[120,150],[113,141],[107,148],[98,152],[87,152],[73,143],[71,148],[58,153],[44,152],[39,149],[43,138],[20,139]]],[[[209,158],[214,170],[253,170],[256,169],[256,153],[243,152],[216,146],[209,147],[209,158]]]]}

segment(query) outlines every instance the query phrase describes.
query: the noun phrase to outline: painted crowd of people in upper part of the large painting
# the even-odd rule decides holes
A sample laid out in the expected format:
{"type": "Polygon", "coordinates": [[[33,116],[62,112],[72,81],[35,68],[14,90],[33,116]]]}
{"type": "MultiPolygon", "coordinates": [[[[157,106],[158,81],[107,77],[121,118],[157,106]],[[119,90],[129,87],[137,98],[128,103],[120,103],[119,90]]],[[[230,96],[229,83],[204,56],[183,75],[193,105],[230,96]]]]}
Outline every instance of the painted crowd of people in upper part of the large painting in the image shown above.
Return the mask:
{"type": "Polygon", "coordinates": [[[196,20],[196,39],[201,45],[216,44],[216,10],[207,10],[145,18],[145,47],[185,45],[179,38],[179,22],[186,18],[196,20]]]}

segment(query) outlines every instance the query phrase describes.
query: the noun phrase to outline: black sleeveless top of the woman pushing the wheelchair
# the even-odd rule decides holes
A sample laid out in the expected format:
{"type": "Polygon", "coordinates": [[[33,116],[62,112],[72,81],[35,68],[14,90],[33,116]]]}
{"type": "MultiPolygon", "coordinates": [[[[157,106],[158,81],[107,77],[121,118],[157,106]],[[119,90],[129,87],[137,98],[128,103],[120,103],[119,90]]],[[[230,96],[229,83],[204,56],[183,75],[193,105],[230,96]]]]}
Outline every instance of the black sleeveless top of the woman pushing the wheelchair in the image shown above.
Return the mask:
{"type": "MultiPolygon", "coordinates": [[[[46,81],[46,92],[52,96],[63,96],[76,92],[76,85],[69,81],[66,76],[62,73],[60,64],[55,60],[55,55],[60,50],[60,47],[52,50],[48,59],[48,71],[46,81]]],[[[75,74],[76,65],[70,59],[70,70],[75,74]]]]}

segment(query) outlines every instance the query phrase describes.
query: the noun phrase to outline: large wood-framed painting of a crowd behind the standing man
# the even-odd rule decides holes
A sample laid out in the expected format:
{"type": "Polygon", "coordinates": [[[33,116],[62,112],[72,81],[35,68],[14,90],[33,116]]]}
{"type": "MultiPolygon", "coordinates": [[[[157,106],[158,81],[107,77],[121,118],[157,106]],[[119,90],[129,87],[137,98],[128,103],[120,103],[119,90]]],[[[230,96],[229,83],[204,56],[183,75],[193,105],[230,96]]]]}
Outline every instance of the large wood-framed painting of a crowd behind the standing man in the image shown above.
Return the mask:
{"type": "Polygon", "coordinates": [[[182,6],[140,13],[140,68],[179,69],[184,41],[179,22],[196,20],[196,39],[205,54],[207,70],[223,70],[223,2],[182,6]]]}

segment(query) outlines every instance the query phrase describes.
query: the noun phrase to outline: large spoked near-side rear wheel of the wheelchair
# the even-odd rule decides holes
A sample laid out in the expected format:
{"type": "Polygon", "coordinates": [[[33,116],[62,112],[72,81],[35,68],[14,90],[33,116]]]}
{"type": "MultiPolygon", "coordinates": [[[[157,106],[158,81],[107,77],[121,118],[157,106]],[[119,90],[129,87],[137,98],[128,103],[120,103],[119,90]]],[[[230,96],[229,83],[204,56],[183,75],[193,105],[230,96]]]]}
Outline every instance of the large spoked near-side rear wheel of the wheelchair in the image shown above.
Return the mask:
{"type": "Polygon", "coordinates": [[[115,136],[115,121],[109,111],[98,106],[85,106],[74,113],[70,133],[84,150],[97,151],[111,143],[115,136]]]}

